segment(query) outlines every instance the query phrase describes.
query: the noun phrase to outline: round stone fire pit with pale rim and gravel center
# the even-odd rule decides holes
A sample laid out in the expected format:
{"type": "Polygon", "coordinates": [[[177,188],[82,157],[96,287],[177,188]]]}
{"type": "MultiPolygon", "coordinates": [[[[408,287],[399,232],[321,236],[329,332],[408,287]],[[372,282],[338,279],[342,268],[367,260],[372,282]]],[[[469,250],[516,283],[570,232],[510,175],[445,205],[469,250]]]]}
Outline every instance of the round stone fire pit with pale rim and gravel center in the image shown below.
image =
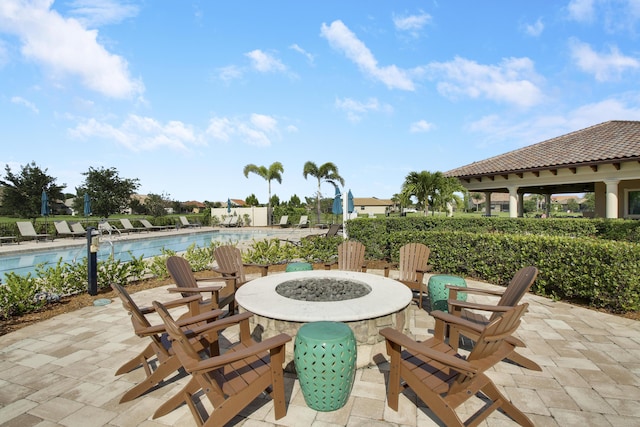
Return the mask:
{"type": "MultiPolygon", "coordinates": [[[[281,332],[295,337],[298,329],[309,322],[346,323],[356,338],[358,368],[373,364],[376,354],[385,354],[384,339],[378,333],[381,328],[408,331],[406,310],[411,299],[411,290],[398,281],[340,270],[273,274],[254,279],[236,292],[241,309],[254,313],[250,322],[257,339],[281,332]],[[351,289],[345,291],[344,288],[351,289]],[[297,295],[304,299],[293,299],[281,295],[278,289],[292,294],[303,294],[306,289],[314,296],[297,295]],[[332,293],[342,298],[348,294],[348,297],[326,301],[332,293]],[[309,298],[325,300],[309,301],[309,298]]],[[[293,370],[293,343],[288,344],[286,350],[287,369],[293,370]]]]}

